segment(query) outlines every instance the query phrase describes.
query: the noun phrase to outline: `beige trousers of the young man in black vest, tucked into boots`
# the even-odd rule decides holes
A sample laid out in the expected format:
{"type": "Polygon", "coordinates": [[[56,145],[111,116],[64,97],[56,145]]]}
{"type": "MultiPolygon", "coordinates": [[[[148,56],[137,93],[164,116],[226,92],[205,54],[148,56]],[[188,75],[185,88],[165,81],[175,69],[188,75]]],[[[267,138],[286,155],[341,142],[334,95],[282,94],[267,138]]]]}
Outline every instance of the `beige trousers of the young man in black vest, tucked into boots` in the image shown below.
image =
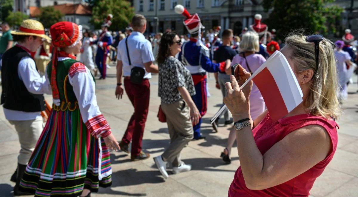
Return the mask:
{"type": "Polygon", "coordinates": [[[27,165],[43,130],[43,119],[39,117],[35,120],[9,120],[9,122],[15,126],[19,135],[21,149],[18,163],[27,165]]]}

